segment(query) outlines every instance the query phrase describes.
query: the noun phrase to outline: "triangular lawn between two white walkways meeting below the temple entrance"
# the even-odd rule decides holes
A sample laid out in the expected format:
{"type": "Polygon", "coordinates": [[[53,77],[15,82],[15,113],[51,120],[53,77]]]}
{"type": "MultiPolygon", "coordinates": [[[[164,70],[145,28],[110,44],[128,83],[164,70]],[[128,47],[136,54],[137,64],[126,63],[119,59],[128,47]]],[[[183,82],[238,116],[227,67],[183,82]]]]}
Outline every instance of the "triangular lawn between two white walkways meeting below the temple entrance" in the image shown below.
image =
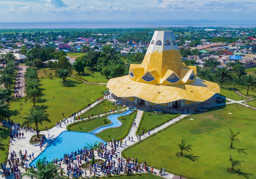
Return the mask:
{"type": "Polygon", "coordinates": [[[139,133],[139,135],[141,135],[142,127],[145,127],[145,131],[152,130],[157,126],[160,126],[160,124],[166,123],[167,121],[170,121],[179,115],[180,114],[157,115],[157,114],[153,114],[152,112],[144,112],[144,116],[143,118],[141,118],[141,123],[138,126],[139,130],[137,129],[136,133],[139,133]]]}

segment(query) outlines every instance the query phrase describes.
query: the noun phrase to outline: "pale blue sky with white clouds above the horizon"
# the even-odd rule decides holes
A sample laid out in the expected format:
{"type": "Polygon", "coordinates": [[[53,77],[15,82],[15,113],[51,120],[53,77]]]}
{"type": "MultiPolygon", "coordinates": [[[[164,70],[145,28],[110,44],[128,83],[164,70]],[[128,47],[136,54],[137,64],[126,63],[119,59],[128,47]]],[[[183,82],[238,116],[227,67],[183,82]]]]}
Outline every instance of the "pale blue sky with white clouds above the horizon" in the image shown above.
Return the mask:
{"type": "Polygon", "coordinates": [[[256,20],[255,0],[0,0],[0,21],[256,20]]]}

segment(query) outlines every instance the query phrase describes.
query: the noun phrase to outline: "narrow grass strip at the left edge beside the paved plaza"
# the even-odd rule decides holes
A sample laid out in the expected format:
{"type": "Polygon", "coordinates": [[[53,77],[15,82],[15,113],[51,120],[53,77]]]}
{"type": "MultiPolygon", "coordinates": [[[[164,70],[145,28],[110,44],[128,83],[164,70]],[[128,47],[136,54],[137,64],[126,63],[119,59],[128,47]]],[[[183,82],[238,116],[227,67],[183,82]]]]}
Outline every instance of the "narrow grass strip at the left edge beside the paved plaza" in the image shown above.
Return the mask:
{"type": "Polygon", "coordinates": [[[0,126],[0,136],[3,139],[2,142],[7,144],[4,150],[0,150],[0,163],[6,162],[7,160],[7,153],[8,153],[8,146],[10,140],[10,134],[12,133],[11,128],[0,126]]]}

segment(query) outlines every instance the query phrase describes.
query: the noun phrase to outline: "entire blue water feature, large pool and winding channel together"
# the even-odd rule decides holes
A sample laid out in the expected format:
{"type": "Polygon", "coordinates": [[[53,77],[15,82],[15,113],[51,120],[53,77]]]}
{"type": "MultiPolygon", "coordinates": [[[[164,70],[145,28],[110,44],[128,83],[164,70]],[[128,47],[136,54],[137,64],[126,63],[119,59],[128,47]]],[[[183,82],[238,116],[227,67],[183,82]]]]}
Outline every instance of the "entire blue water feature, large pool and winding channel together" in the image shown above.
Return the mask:
{"type": "Polygon", "coordinates": [[[122,123],[117,119],[120,116],[125,116],[130,114],[136,110],[136,108],[129,108],[129,110],[123,112],[122,114],[113,114],[109,116],[109,120],[112,122],[107,126],[99,127],[90,133],[83,132],[73,132],[73,131],[64,131],[62,132],[56,139],[44,150],[42,151],[29,165],[36,166],[36,162],[39,159],[46,157],[48,161],[52,161],[53,159],[58,158],[60,160],[63,158],[63,155],[66,153],[71,153],[72,151],[76,151],[77,149],[81,149],[87,144],[94,144],[96,141],[103,142],[105,141],[96,137],[94,134],[105,130],[106,128],[114,128],[121,126],[122,123]]]}

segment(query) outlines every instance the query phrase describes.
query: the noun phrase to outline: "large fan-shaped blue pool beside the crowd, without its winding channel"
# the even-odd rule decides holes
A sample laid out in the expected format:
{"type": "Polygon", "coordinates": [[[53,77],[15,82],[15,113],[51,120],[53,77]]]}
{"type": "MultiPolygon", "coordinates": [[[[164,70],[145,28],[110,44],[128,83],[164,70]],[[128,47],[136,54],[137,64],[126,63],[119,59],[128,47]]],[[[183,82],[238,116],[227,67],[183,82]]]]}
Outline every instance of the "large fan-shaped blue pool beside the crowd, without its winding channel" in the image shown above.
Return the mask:
{"type": "MultiPolygon", "coordinates": [[[[86,143],[94,144],[96,141],[104,142],[99,137],[89,133],[64,131],[29,165],[35,165],[38,159],[42,159],[44,157],[46,157],[48,161],[51,161],[54,158],[61,159],[65,153],[71,153],[77,149],[80,150],[86,146],[86,143]]],[[[106,142],[104,142],[104,144],[106,144],[106,142]]]]}

